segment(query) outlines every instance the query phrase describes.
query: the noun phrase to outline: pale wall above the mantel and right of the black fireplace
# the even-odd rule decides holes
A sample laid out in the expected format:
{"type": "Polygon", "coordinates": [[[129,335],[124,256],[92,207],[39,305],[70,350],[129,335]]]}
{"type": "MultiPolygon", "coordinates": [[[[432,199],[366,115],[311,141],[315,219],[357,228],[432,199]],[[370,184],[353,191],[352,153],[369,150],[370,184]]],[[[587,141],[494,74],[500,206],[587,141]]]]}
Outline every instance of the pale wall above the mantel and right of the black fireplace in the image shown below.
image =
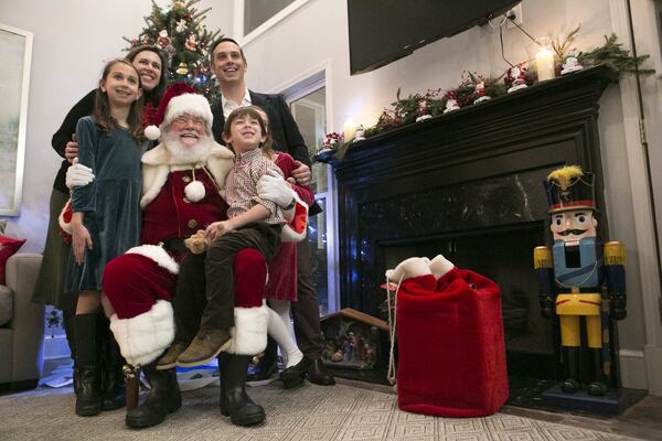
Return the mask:
{"type": "MultiPolygon", "coordinates": [[[[579,50],[590,50],[604,44],[604,36],[611,34],[616,24],[623,24],[624,18],[612,11],[618,8],[611,3],[622,9],[624,1],[523,0],[523,26],[535,37],[563,40],[580,24],[575,45],[579,50]]],[[[659,41],[652,36],[651,31],[651,28],[654,31],[654,22],[651,23],[650,11],[643,11],[652,1],[633,0],[632,3],[636,23],[640,28],[638,32],[649,32],[648,36],[642,36],[643,42],[638,42],[641,45],[640,53],[656,51],[659,54],[659,41]],[[648,20],[647,26],[642,24],[643,19],[648,20]]],[[[395,100],[398,88],[403,96],[424,93],[428,88],[453,88],[461,82],[460,75],[465,69],[488,76],[501,75],[509,67],[501,58],[498,30],[485,25],[434,42],[377,71],[350,76],[346,22],[346,2],[310,0],[288,19],[244,46],[248,58],[248,86],[278,92],[282,85],[290,85],[292,78],[325,63],[330,66],[331,76],[328,79],[331,86],[328,88],[328,100],[331,103],[328,129],[341,131],[350,117],[366,127],[374,125],[382,110],[395,100]]],[[[627,44],[629,35],[622,29],[619,40],[627,44]]],[[[537,51],[536,45],[516,29],[504,31],[504,46],[506,57],[513,63],[532,58],[537,51]]],[[[649,137],[651,140],[662,139],[660,82],[658,78],[647,78],[643,82],[648,94],[647,105],[651,108],[649,137]]],[[[628,319],[619,323],[619,341],[626,354],[621,354],[623,384],[628,387],[647,388],[648,377],[654,370],[649,370],[647,375],[644,346],[652,344],[659,349],[661,342],[660,321],[655,314],[644,318],[644,309],[650,308],[659,295],[659,290],[651,277],[648,277],[643,287],[641,282],[647,277],[640,273],[640,269],[647,267],[650,270],[654,267],[654,261],[651,261],[654,256],[651,254],[651,241],[647,239],[650,236],[649,228],[643,228],[645,234],[636,228],[636,213],[645,216],[637,204],[648,202],[645,197],[632,202],[632,195],[641,184],[643,169],[630,152],[639,146],[636,140],[626,136],[624,121],[628,118],[636,119],[636,115],[630,109],[623,109],[622,94],[621,87],[612,85],[600,100],[599,127],[604,172],[607,176],[607,207],[604,209],[609,216],[611,239],[621,240],[628,247],[628,319]],[[624,148],[626,146],[629,148],[624,148]]],[[[662,154],[660,149],[652,147],[652,150],[655,182],[659,182],[662,179],[662,154]]],[[[662,204],[658,202],[658,206],[662,204]]],[[[647,222],[650,224],[644,217],[642,223],[647,222]]],[[[662,368],[659,362],[658,367],[662,368]]],[[[656,394],[662,394],[662,388],[658,388],[656,394]]]]}

